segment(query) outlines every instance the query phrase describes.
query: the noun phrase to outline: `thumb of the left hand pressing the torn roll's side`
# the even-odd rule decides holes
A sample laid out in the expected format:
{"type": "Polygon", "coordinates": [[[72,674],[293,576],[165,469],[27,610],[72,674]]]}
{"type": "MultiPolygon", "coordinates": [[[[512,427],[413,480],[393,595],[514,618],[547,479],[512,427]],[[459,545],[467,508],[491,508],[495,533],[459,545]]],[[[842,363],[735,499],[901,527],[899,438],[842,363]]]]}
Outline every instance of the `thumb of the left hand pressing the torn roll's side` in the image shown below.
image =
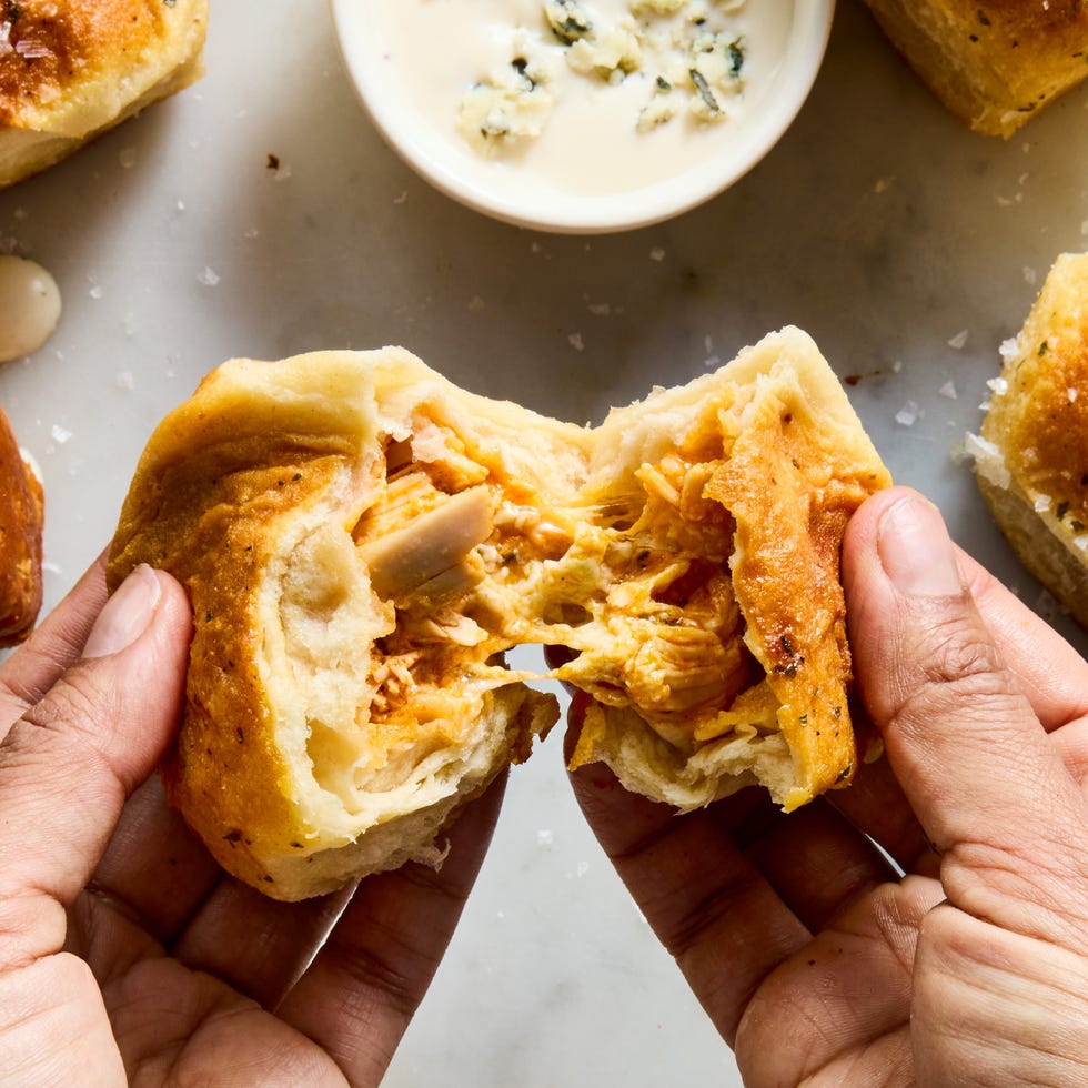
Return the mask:
{"type": "Polygon", "coordinates": [[[124,797],[177,725],[189,604],[141,567],[94,623],[83,659],[0,744],[0,967],[64,941],[64,910],[101,856],[124,797]]]}

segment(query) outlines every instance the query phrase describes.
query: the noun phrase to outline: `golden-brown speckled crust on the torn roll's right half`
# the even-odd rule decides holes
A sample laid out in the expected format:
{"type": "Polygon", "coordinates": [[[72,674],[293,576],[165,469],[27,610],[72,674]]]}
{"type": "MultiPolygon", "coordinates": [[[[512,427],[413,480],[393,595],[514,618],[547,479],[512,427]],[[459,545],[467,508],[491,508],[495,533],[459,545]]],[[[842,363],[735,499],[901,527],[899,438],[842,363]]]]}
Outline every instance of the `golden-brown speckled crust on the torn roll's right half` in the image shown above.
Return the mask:
{"type": "Polygon", "coordinates": [[[763,397],[707,494],[737,522],[733,585],[795,754],[794,807],[854,774],[839,548],[850,515],[888,478],[848,446],[820,441],[813,405],[783,392],[763,397]]]}

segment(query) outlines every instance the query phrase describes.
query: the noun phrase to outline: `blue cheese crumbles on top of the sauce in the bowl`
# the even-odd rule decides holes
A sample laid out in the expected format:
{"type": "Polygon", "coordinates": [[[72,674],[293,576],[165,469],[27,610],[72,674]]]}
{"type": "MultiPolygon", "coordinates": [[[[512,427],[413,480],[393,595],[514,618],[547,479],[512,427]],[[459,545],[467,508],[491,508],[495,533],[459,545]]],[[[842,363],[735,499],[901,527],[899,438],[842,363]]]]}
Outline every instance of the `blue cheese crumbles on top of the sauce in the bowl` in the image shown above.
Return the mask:
{"type": "Polygon", "coordinates": [[[737,112],[745,90],[747,42],[738,16],[746,0],[542,0],[540,18],[517,26],[508,64],[462,95],[459,129],[482,155],[537,139],[565,78],[606,90],[645,83],[632,128],[719,125],[737,112]],[[618,9],[618,10],[616,10],[618,9]]]}

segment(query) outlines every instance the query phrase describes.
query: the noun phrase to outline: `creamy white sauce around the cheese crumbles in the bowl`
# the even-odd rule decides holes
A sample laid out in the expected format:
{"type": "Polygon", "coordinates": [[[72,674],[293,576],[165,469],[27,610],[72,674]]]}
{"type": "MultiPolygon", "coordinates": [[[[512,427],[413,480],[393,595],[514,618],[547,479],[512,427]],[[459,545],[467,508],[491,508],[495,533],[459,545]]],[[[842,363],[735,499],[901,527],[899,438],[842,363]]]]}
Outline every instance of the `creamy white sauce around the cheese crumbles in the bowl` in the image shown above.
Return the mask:
{"type": "MultiPolygon", "coordinates": [[[[758,109],[789,37],[793,3],[787,0],[677,0],[647,4],[638,0],[581,0],[552,6],[588,16],[600,34],[614,38],[617,28],[648,28],[642,36],[639,64],[629,61],[607,72],[586,74],[571,63],[571,43],[553,32],[543,0],[371,0],[362,26],[374,75],[403,105],[401,124],[421,145],[430,141],[435,157],[463,178],[494,191],[496,185],[524,197],[542,194],[604,197],[629,193],[685,173],[737,138],[745,115],[758,109]],[[654,8],[656,7],[656,10],[654,8]],[[667,8],[674,8],[673,13],[667,8]],[[692,87],[681,92],[675,115],[646,123],[646,108],[673,89],[658,84],[666,66],[682,75],[691,67],[684,56],[662,49],[662,33],[689,39],[705,19],[721,42],[743,48],[742,79],[734,93],[715,95],[723,115],[706,120],[687,108],[692,87]],[[653,34],[651,39],[649,34],[653,34]],[[538,134],[501,140],[491,148],[466,138],[461,120],[466,93],[480,83],[502,81],[515,61],[528,60],[532,85],[544,74],[541,108],[527,111],[527,125],[538,134]],[[634,70],[632,70],[634,68],[634,70]],[[554,99],[554,101],[550,101],[554,99]],[[639,124],[639,118],[643,123],[639,124]],[[436,142],[435,142],[436,141],[436,142]]],[[[522,68],[525,66],[522,64],[522,68]]],[[[526,84],[528,85],[528,84],[526,84]]],[[[384,89],[383,89],[384,91],[384,89]]],[[[536,92],[538,93],[538,91],[536,92]]],[[[705,111],[704,111],[705,112],[705,111]]]]}

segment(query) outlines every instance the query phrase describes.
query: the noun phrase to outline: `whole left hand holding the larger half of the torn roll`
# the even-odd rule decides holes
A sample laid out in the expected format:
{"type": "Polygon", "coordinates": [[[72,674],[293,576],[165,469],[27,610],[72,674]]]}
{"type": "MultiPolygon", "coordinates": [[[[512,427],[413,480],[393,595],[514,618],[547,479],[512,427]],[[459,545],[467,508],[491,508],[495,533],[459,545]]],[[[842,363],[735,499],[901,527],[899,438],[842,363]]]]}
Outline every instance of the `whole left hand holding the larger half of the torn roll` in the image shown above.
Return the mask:
{"type": "Polygon", "coordinates": [[[97,565],[0,665],[7,1088],[377,1084],[483,859],[502,782],[441,873],[301,904],[225,877],[149,778],[189,635],[177,582],[141,567],[105,604],[97,565]]]}

